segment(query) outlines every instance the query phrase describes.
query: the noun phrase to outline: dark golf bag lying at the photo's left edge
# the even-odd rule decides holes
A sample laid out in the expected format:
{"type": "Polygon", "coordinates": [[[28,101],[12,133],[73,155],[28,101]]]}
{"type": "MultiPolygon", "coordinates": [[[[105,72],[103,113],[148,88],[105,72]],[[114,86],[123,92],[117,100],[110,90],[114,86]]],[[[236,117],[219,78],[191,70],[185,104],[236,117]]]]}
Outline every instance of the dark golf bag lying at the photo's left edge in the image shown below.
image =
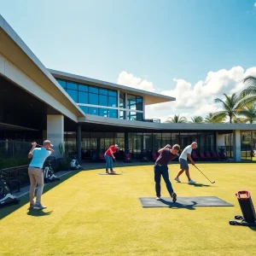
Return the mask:
{"type": "Polygon", "coordinates": [[[0,207],[7,207],[20,203],[20,200],[12,195],[9,185],[0,177],[0,207]]]}

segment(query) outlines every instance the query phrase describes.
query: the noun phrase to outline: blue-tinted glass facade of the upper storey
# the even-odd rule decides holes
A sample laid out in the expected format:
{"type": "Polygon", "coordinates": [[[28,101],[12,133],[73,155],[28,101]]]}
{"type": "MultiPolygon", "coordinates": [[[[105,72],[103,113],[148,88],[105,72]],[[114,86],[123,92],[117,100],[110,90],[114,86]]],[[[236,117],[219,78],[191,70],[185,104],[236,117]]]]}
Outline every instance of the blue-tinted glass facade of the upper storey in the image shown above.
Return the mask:
{"type": "Polygon", "coordinates": [[[117,90],[104,89],[89,84],[79,84],[63,79],[56,80],[84,113],[113,119],[119,117],[119,119],[143,121],[142,96],[128,94],[126,99],[125,92],[119,91],[118,102],[117,90]],[[125,108],[128,108],[130,111],[125,108]]]}

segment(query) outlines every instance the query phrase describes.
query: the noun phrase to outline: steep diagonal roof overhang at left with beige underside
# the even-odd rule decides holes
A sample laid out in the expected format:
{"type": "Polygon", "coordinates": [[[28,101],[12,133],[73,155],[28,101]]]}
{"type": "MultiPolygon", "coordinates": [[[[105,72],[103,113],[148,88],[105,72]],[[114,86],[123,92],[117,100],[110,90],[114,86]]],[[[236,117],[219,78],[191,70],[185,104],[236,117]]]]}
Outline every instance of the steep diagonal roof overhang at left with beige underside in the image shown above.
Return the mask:
{"type": "MultiPolygon", "coordinates": [[[[49,73],[49,70],[32,53],[32,50],[28,48],[14,29],[9,26],[9,23],[3,19],[2,15],[0,15],[0,42],[0,53],[3,56],[11,61],[15,67],[18,67],[20,71],[26,73],[28,77],[33,79],[49,95],[53,96],[56,102],[61,102],[59,106],[62,109],[57,109],[58,111],[74,121],[77,121],[77,117],[84,116],[84,112],[73,101],[72,97],[67,94],[51,73],[49,73]]],[[[1,69],[0,72],[2,73],[1,69]]],[[[35,91],[30,91],[30,93],[34,94],[35,91]]],[[[50,105],[50,102],[46,103],[50,105]]]]}

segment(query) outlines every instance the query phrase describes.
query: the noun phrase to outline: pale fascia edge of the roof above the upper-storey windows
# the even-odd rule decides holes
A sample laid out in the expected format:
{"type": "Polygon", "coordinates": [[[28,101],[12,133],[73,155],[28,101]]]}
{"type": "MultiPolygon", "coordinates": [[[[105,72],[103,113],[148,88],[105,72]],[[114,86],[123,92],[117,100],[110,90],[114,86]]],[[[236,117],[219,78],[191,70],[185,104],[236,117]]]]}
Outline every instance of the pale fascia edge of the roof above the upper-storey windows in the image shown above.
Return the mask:
{"type": "Polygon", "coordinates": [[[66,72],[62,72],[62,71],[58,71],[58,70],[54,70],[54,69],[50,69],[50,68],[48,70],[52,74],[60,75],[60,76],[67,77],[67,78],[70,78],[70,79],[79,79],[79,80],[82,80],[84,82],[91,82],[91,83],[94,83],[94,84],[108,85],[108,86],[111,86],[115,89],[130,90],[131,92],[134,92],[134,93],[140,93],[140,94],[148,95],[148,96],[157,96],[157,97],[162,97],[164,99],[167,99],[169,101],[176,101],[176,98],[174,98],[174,97],[165,96],[165,95],[158,94],[158,93],[155,93],[155,92],[150,92],[150,91],[147,91],[147,90],[140,90],[140,89],[136,89],[136,88],[121,85],[121,84],[113,84],[113,83],[109,83],[109,82],[98,80],[98,79],[90,79],[90,78],[87,78],[87,77],[84,77],[84,76],[76,75],[76,74],[73,74],[73,73],[66,73],[66,72]]]}

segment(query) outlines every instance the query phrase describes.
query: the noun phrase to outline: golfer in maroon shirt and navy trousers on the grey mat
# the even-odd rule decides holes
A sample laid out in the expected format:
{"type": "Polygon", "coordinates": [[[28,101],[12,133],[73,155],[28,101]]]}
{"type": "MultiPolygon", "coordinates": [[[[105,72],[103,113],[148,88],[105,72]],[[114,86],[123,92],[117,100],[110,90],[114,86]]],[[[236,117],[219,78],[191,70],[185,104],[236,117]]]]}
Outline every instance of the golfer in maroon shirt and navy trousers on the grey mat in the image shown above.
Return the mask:
{"type": "Polygon", "coordinates": [[[179,151],[179,145],[175,144],[171,148],[169,144],[166,145],[165,148],[161,148],[158,150],[160,156],[157,158],[154,164],[154,182],[155,182],[155,192],[156,192],[156,200],[161,199],[161,176],[164,178],[166,183],[166,188],[172,197],[172,201],[177,201],[177,195],[173,192],[172,183],[169,180],[169,172],[168,172],[168,162],[175,159],[177,157],[177,152],[179,151]]]}

